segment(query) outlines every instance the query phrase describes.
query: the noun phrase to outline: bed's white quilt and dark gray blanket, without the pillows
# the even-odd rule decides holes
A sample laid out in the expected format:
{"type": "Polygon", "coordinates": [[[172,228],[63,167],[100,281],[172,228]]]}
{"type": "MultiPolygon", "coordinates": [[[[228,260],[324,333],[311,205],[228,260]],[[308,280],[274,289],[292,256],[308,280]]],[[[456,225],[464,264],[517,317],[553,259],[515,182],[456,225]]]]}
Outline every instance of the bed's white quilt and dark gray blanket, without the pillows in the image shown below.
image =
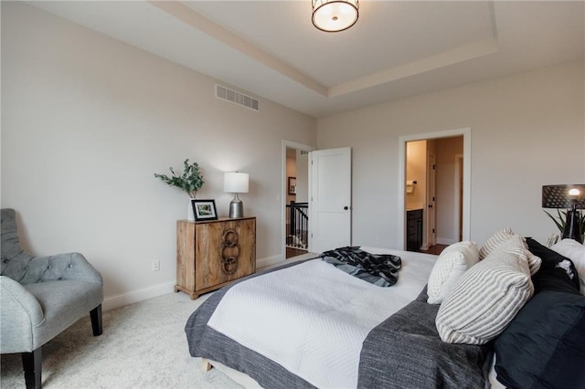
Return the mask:
{"type": "Polygon", "coordinates": [[[368,284],[319,258],[256,274],[194,312],[186,324],[191,355],[267,388],[485,387],[489,348],[441,342],[435,329],[439,306],[427,304],[425,285],[437,257],[362,248],[402,259],[394,286],[368,284]]]}

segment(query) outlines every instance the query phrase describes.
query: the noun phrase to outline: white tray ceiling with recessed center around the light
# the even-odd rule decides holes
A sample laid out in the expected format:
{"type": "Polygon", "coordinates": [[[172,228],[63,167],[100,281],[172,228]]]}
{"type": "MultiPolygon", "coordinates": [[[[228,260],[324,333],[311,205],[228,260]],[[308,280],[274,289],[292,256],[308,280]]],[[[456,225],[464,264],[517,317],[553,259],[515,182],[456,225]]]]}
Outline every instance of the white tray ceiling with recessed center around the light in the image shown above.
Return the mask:
{"type": "Polygon", "coordinates": [[[585,53],[581,1],[360,0],[339,33],[311,0],[27,3],[316,118],[585,53]]]}

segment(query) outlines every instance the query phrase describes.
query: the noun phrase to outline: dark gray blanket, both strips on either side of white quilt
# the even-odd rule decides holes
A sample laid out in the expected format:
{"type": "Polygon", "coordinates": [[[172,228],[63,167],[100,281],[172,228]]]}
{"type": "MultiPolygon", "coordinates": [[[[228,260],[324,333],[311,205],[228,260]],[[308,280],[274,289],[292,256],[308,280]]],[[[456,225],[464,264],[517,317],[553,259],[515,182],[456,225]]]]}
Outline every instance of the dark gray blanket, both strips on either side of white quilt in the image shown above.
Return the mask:
{"type": "MultiPolygon", "coordinates": [[[[260,274],[264,273],[250,277],[260,274]]],[[[207,327],[230,287],[214,292],[186,322],[191,356],[208,358],[247,373],[265,388],[313,388],[280,364],[207,327]]],[[[490,346],[441,342],[435,328],[439,305],[427,304],[426,300],[425,288],[417,300],[370,331],[360,356],[359,388],[484,388],[490,346]]]]}

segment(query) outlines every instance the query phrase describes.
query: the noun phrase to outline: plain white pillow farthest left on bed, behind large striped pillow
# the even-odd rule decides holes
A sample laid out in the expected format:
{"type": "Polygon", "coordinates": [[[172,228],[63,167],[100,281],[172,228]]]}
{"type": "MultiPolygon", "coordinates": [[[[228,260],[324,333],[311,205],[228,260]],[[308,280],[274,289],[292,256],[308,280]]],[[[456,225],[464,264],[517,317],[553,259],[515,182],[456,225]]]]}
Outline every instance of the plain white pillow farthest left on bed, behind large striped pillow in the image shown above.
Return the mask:
{"type": "Polygon", "coordinates": [[[427,294],[429,304],[441,304],[463,273],[479,262],[479,250],[475,242],[454,243],[442,250],[431,270],[427,294]]]}

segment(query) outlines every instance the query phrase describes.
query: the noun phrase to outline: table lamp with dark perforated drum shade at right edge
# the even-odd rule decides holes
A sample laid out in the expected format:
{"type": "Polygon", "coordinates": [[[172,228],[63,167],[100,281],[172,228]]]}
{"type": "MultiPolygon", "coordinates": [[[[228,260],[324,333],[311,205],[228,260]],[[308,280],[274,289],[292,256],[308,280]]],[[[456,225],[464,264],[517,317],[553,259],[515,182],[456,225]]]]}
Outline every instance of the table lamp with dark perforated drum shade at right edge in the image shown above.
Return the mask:
{"type": "Polygon", "coordinates": [[[585,208],[585,184],[543,185],[542,207],[567,209],[562,238],[575,239],[583,243],[578,209],[585,208]]]}

